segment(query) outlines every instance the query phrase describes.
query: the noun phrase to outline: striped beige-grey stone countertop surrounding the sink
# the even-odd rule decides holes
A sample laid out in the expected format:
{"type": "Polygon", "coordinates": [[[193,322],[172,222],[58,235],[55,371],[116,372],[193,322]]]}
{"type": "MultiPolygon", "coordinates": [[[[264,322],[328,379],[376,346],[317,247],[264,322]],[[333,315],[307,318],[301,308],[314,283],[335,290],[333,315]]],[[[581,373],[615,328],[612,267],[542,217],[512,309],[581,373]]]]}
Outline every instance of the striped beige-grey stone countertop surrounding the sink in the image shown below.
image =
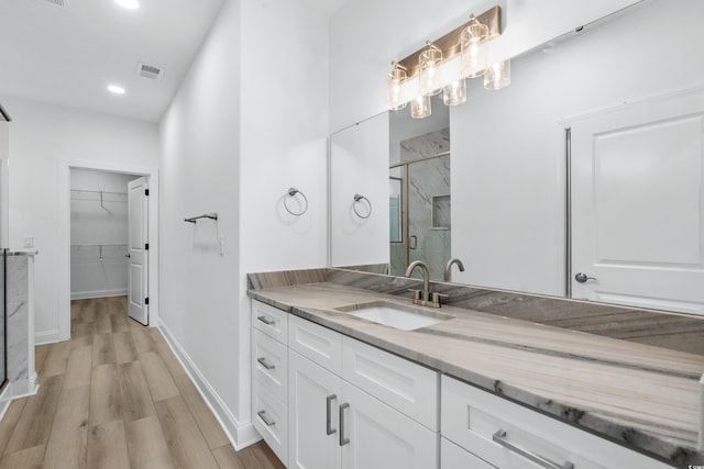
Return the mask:
{"type": "Polygon", "coordinates": [[[399,331],[349,311],[406,298],[329,281],[324,269],[273,275],[250,275],[249,295],[671,465],[704,464],[698,354],[453,305],[431,310],[451,320],[399,331]]]}

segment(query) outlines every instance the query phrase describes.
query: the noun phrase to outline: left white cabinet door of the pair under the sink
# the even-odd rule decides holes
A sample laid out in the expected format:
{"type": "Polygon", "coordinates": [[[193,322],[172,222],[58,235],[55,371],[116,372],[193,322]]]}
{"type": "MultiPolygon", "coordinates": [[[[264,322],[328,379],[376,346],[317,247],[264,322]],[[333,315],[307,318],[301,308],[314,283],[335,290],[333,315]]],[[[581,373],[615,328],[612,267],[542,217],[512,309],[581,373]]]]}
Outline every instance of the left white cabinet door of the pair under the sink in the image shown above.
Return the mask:
{"type": "Polygon", "coordinates": [[[289,466],[339,469],[342,380],[289,350],[289,466]]]}

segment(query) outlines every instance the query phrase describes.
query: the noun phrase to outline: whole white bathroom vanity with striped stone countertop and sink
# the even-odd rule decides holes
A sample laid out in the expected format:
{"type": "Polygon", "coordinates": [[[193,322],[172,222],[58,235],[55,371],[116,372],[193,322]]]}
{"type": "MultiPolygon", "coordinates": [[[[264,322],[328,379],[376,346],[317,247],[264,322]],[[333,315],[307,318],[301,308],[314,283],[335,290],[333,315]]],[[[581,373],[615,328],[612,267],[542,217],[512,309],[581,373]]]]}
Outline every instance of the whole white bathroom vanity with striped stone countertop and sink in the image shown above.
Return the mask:
{"type": "MultiPolygon", "coordinates": [[[[704,461],[702,355],[414,306],[418,282],[406,278],[316,269],[249,280],[253,423],[287,467],[704,461]]],[[[448,286],[450,303],[466,288],[448,286]]]]}

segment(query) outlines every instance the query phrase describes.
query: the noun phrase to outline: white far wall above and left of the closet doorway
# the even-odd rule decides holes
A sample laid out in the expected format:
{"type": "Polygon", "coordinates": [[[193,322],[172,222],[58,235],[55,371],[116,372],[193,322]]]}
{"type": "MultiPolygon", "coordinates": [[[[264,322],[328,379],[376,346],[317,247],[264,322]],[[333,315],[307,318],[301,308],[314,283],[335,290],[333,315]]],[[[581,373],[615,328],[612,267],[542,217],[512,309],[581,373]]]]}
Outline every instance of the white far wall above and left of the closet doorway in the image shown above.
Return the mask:
{"type": "MultiPolygon", "coordinates": [[[[59,161],[155,166],[156,124],[2,97],[10,127],[10,247],[34,236],[38,342],[58,331],[59,161]]],[[[63,194],[62,194],[63,197],[63,194]]]]}

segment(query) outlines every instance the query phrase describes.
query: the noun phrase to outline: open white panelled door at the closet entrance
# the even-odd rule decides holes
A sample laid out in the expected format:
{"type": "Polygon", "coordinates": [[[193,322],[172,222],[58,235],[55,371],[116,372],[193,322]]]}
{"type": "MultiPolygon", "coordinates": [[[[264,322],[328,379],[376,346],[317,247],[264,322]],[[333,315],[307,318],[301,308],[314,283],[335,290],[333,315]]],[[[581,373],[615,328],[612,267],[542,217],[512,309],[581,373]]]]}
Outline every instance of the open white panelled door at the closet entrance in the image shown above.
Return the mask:
{"type": "Polygon", "coordinates": [[[128,183],[128,314],[148,324],[147,186],[142,177],[128,183]]]}

